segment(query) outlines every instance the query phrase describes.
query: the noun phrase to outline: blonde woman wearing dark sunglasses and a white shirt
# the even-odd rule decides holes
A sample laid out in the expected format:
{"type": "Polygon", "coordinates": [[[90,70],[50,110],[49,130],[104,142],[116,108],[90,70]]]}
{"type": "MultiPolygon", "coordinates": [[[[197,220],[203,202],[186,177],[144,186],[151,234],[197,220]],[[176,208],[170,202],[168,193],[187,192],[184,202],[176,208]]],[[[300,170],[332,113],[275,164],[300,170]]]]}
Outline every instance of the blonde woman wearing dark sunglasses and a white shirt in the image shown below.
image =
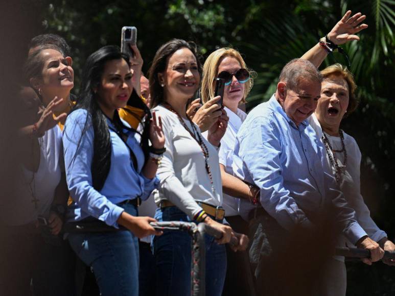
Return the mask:
{"type": "MultiPolygon", "coordinates": [[[[248,223],[239,215],[239,202],[241,202],[239,198],[242,198],[243,202],[250,203],[254,201],[254,197],[258,197],[259,193],[258,187],[249,186],[234,177],[232,169],[236,134],[247,117],[247,114],[239,106],[246,102],[245,98],[252,88],[251,72],[237,50],[219,48],[204,62],[201,87],[203,103],[210,102],[215,93],[215,79],[219,77],[225,80],[223,105],[229,121],[218,152],[224,191],[223,207],[226,220],[235,231],[240,233],[248,232],[248,223]]],[[[242,253],[227,252],[228,266],[224,295],[250,293],[251,287],[249,287],[247,278],[248,264],[245,264],[248,259],[245,256],[246,254],[242,253]]]]}

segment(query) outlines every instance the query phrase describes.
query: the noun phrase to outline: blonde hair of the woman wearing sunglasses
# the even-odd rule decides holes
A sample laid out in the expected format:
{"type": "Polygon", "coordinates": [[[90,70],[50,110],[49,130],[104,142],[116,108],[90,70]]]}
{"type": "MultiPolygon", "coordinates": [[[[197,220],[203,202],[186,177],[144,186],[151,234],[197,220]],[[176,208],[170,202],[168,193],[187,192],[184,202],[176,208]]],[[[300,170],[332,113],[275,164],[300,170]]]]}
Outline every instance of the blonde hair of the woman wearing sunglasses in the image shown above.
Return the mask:
{"type": "Polygon", "coordinates": [[[200,96],[203,103],[210,100],[210,98],[214,97],[215,85],[214,80],[218,76],[218,68],[219,64],[225,57],[233,57],[235,58],[242,68],[247,69],[250,73],[250,78],[247,82],[245,82],[244,95],[240,103],[245,103],[245,98],[250,92],[253,85],[253,77],[255,77],[255,72],[248,69],[243,58],[240,53],[234,48],[222,47],[213,52],[210,56],[207,57],[206,61],[203,65],[203,78],[202,78],[202,86],[200,90],[200,96]]]}

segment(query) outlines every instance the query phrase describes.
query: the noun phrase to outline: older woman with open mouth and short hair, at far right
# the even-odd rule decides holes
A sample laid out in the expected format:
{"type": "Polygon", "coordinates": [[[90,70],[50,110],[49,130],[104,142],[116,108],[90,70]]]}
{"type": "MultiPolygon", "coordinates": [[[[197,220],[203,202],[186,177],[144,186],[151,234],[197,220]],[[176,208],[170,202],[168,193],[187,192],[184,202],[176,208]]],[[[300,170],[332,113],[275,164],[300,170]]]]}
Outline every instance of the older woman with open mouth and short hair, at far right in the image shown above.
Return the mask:
{"type": "MultiPolygon", "coordinates": [[[[388,240],[384,231],[380,230],[370,217],[369,209],[363,201],[360,190],[360,164],[361,152],[355,139],[340,129],[341,120],[350,115],[358,105],[355,97],[357,88],[353,75],[346,67],[340,64],[331,65],[321,71],[323,81],[321,84],[321,97],[317,109],[310,117],[310,124],[321,139],[327,156],[328,164],[333,175],[340,185],[348,204],[354,208],[359,224],[368,236],[377,241],[385,251],[395,250],[395,245],[388,240]]],[[[352,246],[344,237],[338,242],[340,246],[352,246]]],[[[332,275],[341,282],[342,290],[336,295],[344,295],[346,288],[346,271],[343,257],[336,257],[331,263],[332,275]]],[[[368,258],[363,261],[371,264],[368,258]]],[[[388,265],[395,265],[392,260],[383,260],[388,265]]],[[[334,287],[332,287],[333,290],[334,287]]]]}

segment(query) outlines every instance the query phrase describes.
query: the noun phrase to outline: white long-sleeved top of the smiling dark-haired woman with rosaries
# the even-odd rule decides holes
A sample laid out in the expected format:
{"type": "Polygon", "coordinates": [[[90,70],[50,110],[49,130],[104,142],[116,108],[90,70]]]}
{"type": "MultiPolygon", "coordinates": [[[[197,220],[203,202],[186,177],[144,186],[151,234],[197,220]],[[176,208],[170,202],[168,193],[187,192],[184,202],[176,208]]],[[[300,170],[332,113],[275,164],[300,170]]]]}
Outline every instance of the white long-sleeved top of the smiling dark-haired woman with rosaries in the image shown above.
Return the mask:
{"type": "MultiPolygon", "coordinates": [[[[215,147],[201,135],[199,127],[195,125],[210,154],[208,164],[213,177],[213,192],[199,144],[185,130],[176,114],[162,106],[155,107],[153,111],[162,118],[166,138],[166,152],[157,170],[160,185],[159,194],[155,194],[155,202],[158,204],[160,200],[168,200],[191,218],[201,210],[196,201],[221,206],[221,172],[215,147]]],[[[189,120],[184,119],[184,122],[193,132],[189,120]]]]}

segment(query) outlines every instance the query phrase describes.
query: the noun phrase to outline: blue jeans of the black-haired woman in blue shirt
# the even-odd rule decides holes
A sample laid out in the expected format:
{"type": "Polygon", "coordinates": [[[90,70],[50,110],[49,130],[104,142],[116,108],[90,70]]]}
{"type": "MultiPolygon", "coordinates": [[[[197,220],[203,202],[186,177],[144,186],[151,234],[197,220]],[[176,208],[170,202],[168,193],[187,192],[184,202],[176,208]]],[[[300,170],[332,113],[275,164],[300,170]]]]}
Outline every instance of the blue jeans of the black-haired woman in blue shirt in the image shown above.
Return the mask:
{"type": "MultiPolygon", "coordinates": [[[[133,205],[124,205],[133,216],[133,205]]],[[[70,233],[78,257],[92,266],[102,296],[138,296],[138,241],[130,231],[70,233]]]]}

